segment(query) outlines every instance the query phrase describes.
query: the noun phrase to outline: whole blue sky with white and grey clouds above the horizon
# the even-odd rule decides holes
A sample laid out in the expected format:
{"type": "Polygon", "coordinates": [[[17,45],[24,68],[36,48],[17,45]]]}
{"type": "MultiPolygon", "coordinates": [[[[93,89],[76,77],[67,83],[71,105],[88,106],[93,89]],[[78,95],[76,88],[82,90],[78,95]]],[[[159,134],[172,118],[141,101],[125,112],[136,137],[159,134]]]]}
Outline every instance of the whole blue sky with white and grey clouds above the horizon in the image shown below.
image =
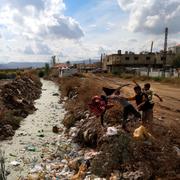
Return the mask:
{"type": "Polygon", "coordinates": [[[180,44],[180,0],[0,0],[0,63],[98,59],[180,44]]]}

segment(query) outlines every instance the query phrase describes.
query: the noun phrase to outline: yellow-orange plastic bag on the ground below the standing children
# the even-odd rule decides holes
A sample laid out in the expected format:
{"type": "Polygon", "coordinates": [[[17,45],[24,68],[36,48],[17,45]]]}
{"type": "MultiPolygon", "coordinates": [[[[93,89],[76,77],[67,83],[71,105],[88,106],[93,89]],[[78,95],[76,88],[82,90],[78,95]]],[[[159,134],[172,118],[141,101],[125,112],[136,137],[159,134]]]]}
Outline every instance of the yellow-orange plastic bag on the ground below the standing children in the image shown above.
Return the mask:
{"type": "Polygon", "coordinates": [[[134,130],[133,137],[137,140],[152,140],[154,137],[147,131],[144,126],[134,130]]]}

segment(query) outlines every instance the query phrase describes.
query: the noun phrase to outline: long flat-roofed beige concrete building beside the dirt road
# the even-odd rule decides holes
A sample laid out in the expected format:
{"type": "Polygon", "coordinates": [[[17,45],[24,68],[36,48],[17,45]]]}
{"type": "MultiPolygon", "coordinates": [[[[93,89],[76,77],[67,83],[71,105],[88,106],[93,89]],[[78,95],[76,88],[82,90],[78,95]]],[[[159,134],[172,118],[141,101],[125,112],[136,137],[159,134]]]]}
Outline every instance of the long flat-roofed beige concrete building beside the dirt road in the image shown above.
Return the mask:
{"type": "MultiPolygon", "coordinates": [[[[171,66],[175,54],[171,51],[167,52],[166,66],[171,66]]],[[[117,54],[105,55],[102,58],[103,69],[109,72],[119,72],[124,67],[158,67],[162,68],[164,65],[164,54],[143,52],[135,54],[133,52],[125,52],[121,54],[118,50],[117,54]]]]}

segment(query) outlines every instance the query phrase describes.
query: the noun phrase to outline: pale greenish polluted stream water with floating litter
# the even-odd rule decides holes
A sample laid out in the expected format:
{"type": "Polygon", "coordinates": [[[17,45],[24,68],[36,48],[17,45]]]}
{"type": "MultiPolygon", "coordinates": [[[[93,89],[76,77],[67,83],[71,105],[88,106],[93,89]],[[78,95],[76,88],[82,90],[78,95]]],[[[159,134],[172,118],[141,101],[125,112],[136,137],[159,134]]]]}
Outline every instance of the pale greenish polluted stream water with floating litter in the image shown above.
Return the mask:
{"type": "Polygon", "coordinates": [[[6,170],[10,172],[8,180],[26,176],[56,148],[58,135],[52,132],[52,127],[63,128],[65,110],[59,103],[58,86],[47,80],[42,80],[42,84],[41,97],[35,101],[37,110],[22,121],[12,140],[0,142],[5,151],[6,170]]]}

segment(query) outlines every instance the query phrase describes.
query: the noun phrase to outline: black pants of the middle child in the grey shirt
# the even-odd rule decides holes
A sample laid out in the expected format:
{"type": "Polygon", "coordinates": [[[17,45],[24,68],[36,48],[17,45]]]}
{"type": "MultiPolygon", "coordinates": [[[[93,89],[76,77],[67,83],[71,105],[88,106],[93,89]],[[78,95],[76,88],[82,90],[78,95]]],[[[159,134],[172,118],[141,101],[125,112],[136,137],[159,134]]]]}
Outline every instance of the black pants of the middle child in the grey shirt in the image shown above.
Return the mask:
{"type": "Polygon", "coordinates": [[[133,114],[136,118],[141,118],[141,114],[136,111],[136,109],[134,108],[134,106],[132,106],[131,104],[129,104],[128,106],[126,106],[124,108],[124,112],[123,112],[123,123],[122,125],[125,126],[126,122],[127,122],[127,118],[130,114],[133,114]]]}

